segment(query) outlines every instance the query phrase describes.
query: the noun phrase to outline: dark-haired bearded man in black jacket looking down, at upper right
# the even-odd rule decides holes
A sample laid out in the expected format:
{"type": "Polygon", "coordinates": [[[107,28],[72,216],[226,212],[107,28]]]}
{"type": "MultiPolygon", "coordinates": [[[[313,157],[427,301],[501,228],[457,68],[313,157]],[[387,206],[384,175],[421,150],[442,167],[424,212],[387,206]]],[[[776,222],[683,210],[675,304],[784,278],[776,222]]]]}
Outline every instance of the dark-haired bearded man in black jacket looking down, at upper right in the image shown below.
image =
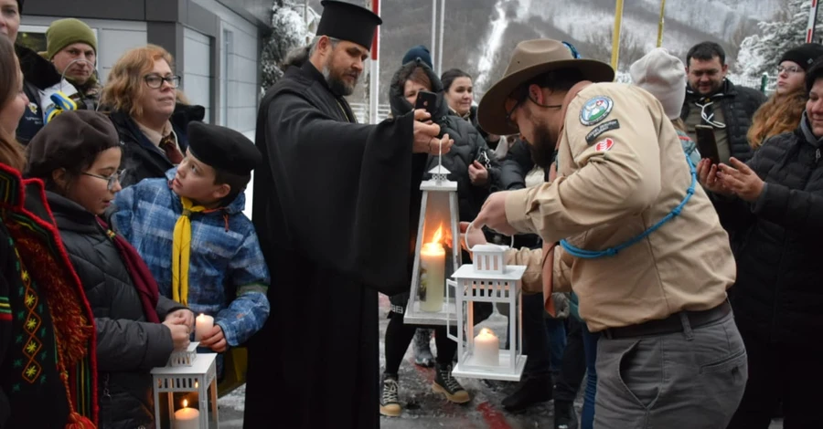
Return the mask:
{"type": "Polygon", "coordinates": [[[686,71],[689,84],[680,119],[686,131],[697,141],[695,125],[709,125],[714,130],[720,162],[733,156],[746,162],[754,153],[746,134],[752,126],[754,112],[766,96],[751,88],[736,86],[726,78],[726,54],[714,42],[701,42],[689,49],[686,71]]]}

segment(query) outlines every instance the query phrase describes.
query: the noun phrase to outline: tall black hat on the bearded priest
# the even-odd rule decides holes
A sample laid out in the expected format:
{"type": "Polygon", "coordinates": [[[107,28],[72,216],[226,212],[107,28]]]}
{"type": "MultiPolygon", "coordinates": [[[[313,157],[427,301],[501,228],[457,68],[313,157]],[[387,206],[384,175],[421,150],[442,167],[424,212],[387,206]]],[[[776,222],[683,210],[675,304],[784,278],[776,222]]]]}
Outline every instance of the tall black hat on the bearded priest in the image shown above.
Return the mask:
{"type": "Polygon", "coordinates": [[[374,30],[383,20],[365,7],[352,3],[323,0],[323,15],[317,25],[317,36],[328,36],[357,43],[371,49],[374,30]]]}

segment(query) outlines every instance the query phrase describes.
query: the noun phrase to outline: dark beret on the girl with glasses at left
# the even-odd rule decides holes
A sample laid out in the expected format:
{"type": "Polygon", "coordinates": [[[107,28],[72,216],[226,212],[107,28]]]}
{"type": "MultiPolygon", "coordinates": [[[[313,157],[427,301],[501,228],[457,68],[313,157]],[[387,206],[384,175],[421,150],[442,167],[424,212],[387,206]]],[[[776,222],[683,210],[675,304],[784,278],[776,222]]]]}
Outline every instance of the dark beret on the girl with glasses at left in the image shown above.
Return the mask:
{"type": "Polygon", "coordinates": [[[27,176],[48,178],[59,169],[85,168],[98,153],[120,147],[108,116],[94,110],[68,110],[55,116],[28,142],[27,176]]]}

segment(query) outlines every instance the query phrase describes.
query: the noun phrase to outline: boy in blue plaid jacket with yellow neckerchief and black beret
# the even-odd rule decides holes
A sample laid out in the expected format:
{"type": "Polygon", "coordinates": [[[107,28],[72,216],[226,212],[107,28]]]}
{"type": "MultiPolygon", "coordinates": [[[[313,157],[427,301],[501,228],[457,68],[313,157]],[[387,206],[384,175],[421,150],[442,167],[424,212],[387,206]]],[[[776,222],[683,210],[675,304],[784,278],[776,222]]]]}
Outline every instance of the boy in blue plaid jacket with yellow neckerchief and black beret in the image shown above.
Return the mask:
{"type": "Polygon", "coordinates": [[[223,352],[269,317],[269,270],[245,188],[262,156],[228,128],[191,122],[189,147],[166,179],[145,179],[114,200],[112,224],[137,249],[160,293],[214,317],[201,347],[223,352]]]}

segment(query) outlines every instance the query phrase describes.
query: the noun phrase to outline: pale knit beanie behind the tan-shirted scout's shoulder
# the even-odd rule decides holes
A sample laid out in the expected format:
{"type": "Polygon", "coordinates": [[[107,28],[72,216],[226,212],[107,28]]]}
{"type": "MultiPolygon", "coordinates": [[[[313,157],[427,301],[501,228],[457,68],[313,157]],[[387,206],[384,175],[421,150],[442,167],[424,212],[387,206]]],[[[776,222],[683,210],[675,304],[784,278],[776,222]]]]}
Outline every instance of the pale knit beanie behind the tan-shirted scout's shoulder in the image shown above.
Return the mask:
{"type": "Polygon", "coordinates": [[[656,47],[632,64],[629,73],[636,86],[660,101],[668,119],[680,117],[686,99],[686,67],[679,58],[656,47]]]}

